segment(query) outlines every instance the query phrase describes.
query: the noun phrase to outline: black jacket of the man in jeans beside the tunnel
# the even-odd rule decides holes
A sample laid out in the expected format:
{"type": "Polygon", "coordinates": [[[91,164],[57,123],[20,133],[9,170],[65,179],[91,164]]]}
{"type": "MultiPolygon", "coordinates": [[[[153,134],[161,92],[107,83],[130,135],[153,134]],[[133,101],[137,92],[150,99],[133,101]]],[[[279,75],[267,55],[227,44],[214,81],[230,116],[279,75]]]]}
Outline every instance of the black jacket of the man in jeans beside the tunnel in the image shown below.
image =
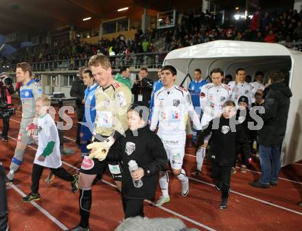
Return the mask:
{"type": "Polygon", "coordinates": [[[264,89],[264,126],[258,132],[257,142],[263,146],[282,146],[286,133],[288,110],[292,91],[284,83],[272,83],[264,89]]]}

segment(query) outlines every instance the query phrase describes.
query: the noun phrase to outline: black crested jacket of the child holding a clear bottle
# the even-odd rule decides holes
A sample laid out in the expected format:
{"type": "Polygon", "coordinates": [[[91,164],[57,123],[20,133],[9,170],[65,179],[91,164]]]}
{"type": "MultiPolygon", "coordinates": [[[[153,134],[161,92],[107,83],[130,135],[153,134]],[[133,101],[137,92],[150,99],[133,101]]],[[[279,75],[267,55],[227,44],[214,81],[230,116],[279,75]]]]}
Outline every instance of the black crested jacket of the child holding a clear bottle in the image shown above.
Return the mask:
{"type": "Polygon", "coordinates": [[[167,169],[167,153],[163,142],[150,131],[149,126],[138,129],[137,133],[128,129],[125,136],[111,147],[106,160],[121,161],[121,192],[126,199],[153,199],[159,172],[167,169]],[[133,159],[143,168],[143,186],[135,188],[128,168],[133,159]]]}

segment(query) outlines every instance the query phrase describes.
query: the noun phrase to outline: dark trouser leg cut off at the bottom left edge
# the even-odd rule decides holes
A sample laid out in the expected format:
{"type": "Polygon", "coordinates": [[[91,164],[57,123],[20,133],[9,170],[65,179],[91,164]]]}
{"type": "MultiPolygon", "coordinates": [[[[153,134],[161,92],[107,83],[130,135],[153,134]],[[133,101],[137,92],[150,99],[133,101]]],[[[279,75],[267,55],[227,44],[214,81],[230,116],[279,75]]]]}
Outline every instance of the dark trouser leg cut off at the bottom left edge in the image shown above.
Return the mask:
{"type": "Polygon", "coordinates": [[[0,163],[0,230],[8,229],[8,201],[6,198],[5,170],[0,163]]]}

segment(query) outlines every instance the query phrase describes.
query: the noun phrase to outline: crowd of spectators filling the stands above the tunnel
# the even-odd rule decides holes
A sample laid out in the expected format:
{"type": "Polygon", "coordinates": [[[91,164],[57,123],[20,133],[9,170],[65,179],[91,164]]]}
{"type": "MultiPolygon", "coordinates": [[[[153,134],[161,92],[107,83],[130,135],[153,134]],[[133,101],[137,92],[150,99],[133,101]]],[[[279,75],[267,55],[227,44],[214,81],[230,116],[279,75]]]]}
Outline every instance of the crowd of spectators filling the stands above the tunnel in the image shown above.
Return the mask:
{"type": "Polygon", "coordinates": [[[225,17],[220,23],[220,14],[210,14],[196,11],[183,12],[179,23],[174,28],[152,30],[143,34],[137,30],[134,39],[126,39],[119,35],[115,39],[100,39],[97,44],[60,40],[54,43],[36,45],[19,50],[10,63],[21,61],[44,62],[69,59],[71,63],[78,58],[102,52],[103,54],[126,54],[156,52],[154,40],[164,38],[164,51],[181,47],[207,43],[209,41],[227,39],[235,41],[257,41],[277,43],[281,41],[302,41],[302,12],[260,12],[246,20],[235,20],[225,17]]]}

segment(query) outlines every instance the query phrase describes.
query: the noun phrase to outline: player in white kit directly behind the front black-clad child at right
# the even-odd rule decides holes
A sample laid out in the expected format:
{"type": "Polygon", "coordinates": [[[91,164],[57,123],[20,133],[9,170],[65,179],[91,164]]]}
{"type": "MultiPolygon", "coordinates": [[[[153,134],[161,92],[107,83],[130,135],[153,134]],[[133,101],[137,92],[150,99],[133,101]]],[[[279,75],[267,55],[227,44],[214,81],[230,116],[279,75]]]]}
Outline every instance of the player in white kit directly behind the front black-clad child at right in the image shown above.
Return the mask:
{"type": "MultiPolygon", "coordinates": [[[[200,107],[203,111],[201,118],[201,126],[208,124],[213,118],[219,118],[222,113],[222,105],[229,100],[232,95],[231,88],[228,85],[222,83],[223,71],[220,68],[213,69],[211,71],[212,83],[208,83],[202,86],[200,91],[200,107]]],[[[207,144],[209,143],[210,135],[207,135],[204,140],[204,144],[199,146],[196,152],[196,170],[191,173],[194,176],[201,175],[201,168],[205,153],[207,150],[207,144]]]]}

